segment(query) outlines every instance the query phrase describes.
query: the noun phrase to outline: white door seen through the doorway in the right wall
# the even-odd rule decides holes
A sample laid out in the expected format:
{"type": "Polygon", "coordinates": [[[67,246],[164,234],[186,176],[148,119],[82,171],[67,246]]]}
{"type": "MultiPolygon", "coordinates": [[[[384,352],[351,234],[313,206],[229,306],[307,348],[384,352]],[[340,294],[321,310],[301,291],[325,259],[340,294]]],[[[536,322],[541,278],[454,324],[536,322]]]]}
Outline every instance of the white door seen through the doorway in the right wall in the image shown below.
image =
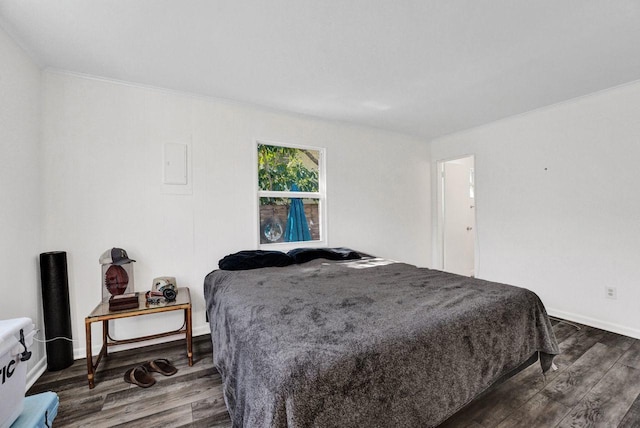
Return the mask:
{"type": "Polygon", "coordinates": [[[443,164],[443,270],[474,276],[473,157],[443,164]]]}

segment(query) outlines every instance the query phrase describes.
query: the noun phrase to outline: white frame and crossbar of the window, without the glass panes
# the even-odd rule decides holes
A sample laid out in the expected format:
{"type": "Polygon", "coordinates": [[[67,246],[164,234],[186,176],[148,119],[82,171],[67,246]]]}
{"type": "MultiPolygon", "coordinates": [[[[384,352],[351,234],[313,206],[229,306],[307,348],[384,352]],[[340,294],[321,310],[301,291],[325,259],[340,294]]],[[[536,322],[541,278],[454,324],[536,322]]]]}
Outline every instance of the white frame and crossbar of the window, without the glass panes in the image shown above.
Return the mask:
{"type": "Polygon", "coordinates": [[[256,230],[256,238],[258,248],[261,250],[278,250],[289,251],[294,248],[315,248],[327,246],[327,174],[326,159],[327,149],[325,147],[307,146],[301,144],[289,144],[263,139],[255,139],[254,144],[254,186],[256,189],[255,199],[255,219],[254,225],[256,230]],[[267,191],[260,190],[258,186],[258,145],[290,147],[294,149],[315,150],[319,154],[318,158],[318,192],[290,192],[290,191],[267,191]],[[296,241],[296,242],[275,242],[272,244],[260,243],[260,198],[301,198],[301,199],[318,199],[318,214],[320,216],[320,239],[317,241],[296,241]]]}

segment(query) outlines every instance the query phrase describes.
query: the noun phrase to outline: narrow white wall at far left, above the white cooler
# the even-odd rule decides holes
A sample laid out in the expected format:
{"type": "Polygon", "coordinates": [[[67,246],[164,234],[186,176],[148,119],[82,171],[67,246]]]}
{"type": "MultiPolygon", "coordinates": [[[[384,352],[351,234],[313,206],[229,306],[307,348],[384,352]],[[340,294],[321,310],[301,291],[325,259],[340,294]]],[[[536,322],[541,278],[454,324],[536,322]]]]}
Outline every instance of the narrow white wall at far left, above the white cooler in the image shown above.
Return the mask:
{"type": "MultiPolygon", "coordinates": [[[[41,328],[39,132],[40,70],[0,29],[0,319],[41,328]]],[[[32,352],[30,371],[44,347],[32,352]]]]}

